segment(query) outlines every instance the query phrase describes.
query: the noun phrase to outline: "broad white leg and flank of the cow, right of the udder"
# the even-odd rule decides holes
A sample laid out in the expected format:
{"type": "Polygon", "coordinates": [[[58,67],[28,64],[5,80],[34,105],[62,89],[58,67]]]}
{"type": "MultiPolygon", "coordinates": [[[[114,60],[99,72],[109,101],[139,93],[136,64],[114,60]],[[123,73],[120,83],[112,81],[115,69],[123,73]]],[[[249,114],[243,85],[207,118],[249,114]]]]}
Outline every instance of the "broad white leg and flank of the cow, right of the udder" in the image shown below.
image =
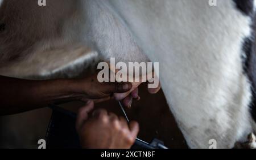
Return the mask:
{"type": "Polygon", "coordinates": [[[189,146],[208,148],[215,139],[218,148],[232,148],[251,132],[250,84],[241,58],[251,21],[233,1],[215,7],[203,0],[108,5],[148,58],[159,62],[164,94],[189,146]]]}

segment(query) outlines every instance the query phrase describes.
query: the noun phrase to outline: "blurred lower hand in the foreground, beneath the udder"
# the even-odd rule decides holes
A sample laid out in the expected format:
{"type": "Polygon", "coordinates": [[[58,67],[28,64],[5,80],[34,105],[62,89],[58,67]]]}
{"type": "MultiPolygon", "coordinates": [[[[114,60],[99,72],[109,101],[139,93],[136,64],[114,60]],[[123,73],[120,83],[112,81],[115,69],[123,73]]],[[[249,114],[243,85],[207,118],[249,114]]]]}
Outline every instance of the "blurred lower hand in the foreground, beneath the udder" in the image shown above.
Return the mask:
{"type": "Polygon", "coordinates": [[[127,124],[126,120],[106,110],[96,110],[89,118],[93,102],[82,107],[77,117],[76,128],[83,148],[129,149],[139,132],[137,122],[127,124]]]}

